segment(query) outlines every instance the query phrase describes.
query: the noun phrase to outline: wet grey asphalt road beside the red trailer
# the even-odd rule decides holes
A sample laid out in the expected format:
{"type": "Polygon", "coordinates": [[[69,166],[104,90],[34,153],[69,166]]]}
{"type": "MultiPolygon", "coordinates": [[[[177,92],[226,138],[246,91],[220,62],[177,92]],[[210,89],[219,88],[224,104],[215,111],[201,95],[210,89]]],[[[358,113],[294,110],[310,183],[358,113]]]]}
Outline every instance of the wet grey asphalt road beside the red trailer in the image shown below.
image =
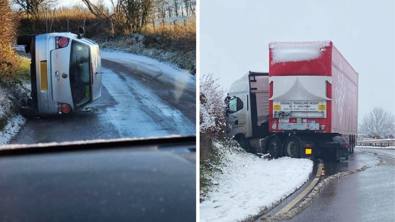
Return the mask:
{"type": "Polygon", "coordinates": [[[330,182],[310,206],[287,221],[395,221],[395,151],[355,149],[377,152],[384,163],[377,166],[380,161],[377,156],[359,151],[345,162],[324,162],[322,178],[366,165],[371,167],[330,182]]]}

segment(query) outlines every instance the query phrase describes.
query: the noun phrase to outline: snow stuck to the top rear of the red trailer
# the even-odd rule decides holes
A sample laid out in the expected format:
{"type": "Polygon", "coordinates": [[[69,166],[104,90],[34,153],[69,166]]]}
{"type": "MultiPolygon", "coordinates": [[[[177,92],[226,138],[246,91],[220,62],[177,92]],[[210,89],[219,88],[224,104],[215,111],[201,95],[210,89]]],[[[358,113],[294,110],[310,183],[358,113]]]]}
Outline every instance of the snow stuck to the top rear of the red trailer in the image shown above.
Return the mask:
{"type": "Polygon", "coordinates": [[[331,41],[271,42],[271,64],[319,58],[322,55],[321,49],[329,46],[331,41]]]}

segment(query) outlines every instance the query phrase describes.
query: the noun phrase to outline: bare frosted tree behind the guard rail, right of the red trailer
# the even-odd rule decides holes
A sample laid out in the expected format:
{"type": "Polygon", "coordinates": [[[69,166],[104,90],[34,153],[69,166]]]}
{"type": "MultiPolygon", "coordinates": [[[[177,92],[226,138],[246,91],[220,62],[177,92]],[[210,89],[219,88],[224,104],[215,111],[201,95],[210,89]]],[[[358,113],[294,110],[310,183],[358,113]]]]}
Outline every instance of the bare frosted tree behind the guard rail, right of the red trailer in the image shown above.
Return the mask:
{"type": "Polygon", "coordinates": [[[363,117],[359,130],[365,137],[388,138],[395,132],[395,117],[382,107],[374,107],[373,110],[363,117]]]}

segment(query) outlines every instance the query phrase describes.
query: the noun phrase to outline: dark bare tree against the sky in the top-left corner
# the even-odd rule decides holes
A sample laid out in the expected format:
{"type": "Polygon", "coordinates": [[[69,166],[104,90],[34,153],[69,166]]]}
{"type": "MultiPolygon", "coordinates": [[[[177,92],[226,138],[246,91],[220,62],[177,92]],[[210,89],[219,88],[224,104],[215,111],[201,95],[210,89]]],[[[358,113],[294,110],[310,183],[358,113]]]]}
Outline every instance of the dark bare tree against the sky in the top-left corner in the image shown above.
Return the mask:
{"type": "Polygon", "coordinates": [[[49,8],[55,6],[58,0],[11,0],[12,4],[19,8],[20,12],[24,12],[34,17],[38,16],[38,13],[43,8],[49,8]]]}

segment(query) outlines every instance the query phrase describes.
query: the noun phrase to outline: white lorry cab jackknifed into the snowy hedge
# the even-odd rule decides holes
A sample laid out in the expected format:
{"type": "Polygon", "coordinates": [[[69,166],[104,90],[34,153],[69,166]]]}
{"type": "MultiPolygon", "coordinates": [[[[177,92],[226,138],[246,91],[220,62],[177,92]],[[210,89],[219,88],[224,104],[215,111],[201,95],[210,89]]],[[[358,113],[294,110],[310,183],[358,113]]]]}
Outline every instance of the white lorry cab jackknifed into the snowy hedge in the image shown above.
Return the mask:
{"type": "Polygon", "coordinates": [[[269,73],[247,72],[232,83],[225,102],[228,137],[234,136],[247,151],[264,152],[261,143],[268,134],[269,73]]]}

